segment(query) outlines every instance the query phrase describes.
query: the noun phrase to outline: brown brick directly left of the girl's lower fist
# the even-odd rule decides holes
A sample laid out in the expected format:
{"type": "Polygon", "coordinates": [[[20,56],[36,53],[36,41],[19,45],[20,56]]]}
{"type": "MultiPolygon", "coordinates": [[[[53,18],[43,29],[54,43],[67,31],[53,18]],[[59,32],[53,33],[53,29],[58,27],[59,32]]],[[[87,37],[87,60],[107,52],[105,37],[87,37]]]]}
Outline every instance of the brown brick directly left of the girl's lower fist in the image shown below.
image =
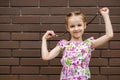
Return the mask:
{"type": "Polygon", "coordinates": [[[12,40],[39,40],[39,33],[12,33],[12,40]]]}

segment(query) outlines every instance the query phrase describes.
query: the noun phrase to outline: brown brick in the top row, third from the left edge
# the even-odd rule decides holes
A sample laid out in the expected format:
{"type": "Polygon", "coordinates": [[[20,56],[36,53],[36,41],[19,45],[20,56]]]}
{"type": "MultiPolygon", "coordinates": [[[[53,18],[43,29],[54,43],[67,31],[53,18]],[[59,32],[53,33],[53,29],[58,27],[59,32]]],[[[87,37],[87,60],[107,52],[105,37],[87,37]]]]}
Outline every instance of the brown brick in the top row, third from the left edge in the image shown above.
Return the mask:
{"type": "Polygon", "coordinates": [[[68,5],[67,0],[40,0],[40,6],[47,6],[47,7],[66,7],[68,5]]]}

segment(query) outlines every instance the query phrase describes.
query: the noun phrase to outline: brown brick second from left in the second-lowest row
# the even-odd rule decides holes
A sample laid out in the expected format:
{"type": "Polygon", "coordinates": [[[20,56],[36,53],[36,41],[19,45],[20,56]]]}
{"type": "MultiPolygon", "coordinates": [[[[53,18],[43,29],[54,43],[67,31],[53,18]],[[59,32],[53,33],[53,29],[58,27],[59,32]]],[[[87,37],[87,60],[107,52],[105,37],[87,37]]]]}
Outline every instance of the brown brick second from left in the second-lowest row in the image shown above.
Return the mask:
{"type": "Polygon", "coordinates": [[[39,67],[12,67],[12,74],[39,74],[39,67]]]}

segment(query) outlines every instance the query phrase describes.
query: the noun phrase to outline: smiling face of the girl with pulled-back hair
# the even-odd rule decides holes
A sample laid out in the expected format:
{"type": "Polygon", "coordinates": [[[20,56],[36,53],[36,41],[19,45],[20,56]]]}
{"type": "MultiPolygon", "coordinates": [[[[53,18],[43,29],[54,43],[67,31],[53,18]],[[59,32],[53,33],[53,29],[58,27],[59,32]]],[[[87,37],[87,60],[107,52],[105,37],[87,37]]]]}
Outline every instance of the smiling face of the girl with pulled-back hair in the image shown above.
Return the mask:
{"type": "Polygon", "coordinates": [[[86,29],[86,23],[83,22],[81,16],[71,16],[68,18],[67,31],[70,32],[71,38],[79,39],[82,37],[86,29]]]}

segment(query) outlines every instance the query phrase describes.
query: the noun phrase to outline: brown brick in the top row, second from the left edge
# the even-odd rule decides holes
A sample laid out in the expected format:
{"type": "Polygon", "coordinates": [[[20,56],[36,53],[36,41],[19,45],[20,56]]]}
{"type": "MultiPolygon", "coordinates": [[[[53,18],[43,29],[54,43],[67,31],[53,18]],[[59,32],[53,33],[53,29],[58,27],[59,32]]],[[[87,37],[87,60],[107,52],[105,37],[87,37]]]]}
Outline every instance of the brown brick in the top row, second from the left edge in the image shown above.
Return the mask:
{"type": "Polygon", "coordinates": [[[38,6],[38,0],[11,0],[11,6],[38,6]]]}

